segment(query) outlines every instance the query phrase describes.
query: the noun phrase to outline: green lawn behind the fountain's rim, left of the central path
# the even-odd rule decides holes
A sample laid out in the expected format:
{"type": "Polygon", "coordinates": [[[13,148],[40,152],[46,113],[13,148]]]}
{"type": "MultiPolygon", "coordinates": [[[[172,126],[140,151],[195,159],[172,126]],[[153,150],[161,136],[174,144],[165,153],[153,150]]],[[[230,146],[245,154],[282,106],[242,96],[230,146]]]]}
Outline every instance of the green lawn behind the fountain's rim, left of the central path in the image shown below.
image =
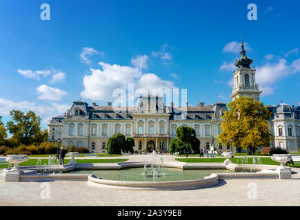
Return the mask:
{"type": "MultiPolygon", "coordinates": [[[[65,159],[65,164],[71,159],[65,159]]],[[[88,163],[121,163],[126,162],[128,159],[77,159],[79,164],[88,164],[88,163]]],[[[20,166],[36,166],[38,159],[28,159],[27,162],[23,162],[20,166]]],[[[48,164],[48,159],[41,159],[41,165],[48,164]]],[[[1,165],[0,168],[8,168],[8,165],[1,165]]]]}

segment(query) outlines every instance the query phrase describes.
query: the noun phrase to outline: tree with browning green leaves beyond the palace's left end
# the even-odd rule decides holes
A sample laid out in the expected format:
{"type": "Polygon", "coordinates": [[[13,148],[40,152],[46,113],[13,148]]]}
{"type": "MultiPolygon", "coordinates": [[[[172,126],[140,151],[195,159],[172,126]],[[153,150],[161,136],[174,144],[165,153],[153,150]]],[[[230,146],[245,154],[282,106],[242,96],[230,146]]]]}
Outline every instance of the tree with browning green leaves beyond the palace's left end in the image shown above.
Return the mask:
{"type": "Polygon", "coordinates": [[[19,144],[40,144],[45,138],[45,133],[41,131],[41,118],[33,111],[24,114],[23,111],[10,111],[12,121],[8,122],[6,127],[16,138],[19,144]]]}

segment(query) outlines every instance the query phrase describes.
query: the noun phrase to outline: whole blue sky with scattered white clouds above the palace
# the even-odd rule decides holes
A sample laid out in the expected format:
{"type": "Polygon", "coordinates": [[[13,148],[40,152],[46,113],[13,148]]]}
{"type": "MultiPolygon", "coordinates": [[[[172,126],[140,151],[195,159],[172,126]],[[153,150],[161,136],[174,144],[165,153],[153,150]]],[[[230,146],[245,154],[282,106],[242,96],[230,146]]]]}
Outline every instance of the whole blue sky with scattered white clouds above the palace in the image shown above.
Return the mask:
{"type": "Polygon", "coordinates": [[[73,100],[106,104],[128,83],[186,88],[190,105],[228,102],[241,32],[261,101],[300,104],[299,10],[294,0],[1,0],[0,115],[32,109],[46,127],[73,100]]]}

